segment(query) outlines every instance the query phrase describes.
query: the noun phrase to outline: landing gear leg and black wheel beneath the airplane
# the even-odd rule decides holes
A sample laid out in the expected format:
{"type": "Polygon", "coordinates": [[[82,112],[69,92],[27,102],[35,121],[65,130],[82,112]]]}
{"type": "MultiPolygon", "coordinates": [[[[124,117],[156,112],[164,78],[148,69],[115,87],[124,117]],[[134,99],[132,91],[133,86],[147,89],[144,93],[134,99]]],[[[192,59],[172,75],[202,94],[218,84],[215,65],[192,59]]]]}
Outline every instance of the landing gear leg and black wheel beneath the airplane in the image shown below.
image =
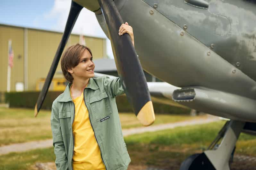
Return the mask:
{"type": "Polygon", "coordinates": [[[219,131],[209,148],[201,154],[194,154],[183,161],[180,170],[230,170],[235,143],[243,130],[244,122],[231,120],[219,131]],[[219,140],[222,138],[220,144],[219,140]]]}

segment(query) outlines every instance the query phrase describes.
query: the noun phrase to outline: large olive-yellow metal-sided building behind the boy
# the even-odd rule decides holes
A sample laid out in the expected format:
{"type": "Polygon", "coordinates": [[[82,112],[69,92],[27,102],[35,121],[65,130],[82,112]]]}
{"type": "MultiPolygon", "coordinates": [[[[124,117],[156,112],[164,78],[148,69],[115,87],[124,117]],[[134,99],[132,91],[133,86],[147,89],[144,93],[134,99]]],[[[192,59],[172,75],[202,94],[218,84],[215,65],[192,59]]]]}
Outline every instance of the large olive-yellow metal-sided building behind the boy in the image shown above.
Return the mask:
{"type": "MultiPolygon", "coordinates": [[[[36,89],[38,79],[47,77],[62,34],[62,32],[0,24],[0,92],[7,89],[9,40],[12,41],[14,53],[10,90],[16,91],[17,86],[23,86],[24,91],[30,91],[36,89]]],[[[79,37],[71,34],[66,47],[79,43],[79,37]]],[[[107,58],[105,38],[91,36],[84,36],[84,38],[94,59],[107,58]]],[[[54,78],[63,78],[60,62],[54,78]]]]}

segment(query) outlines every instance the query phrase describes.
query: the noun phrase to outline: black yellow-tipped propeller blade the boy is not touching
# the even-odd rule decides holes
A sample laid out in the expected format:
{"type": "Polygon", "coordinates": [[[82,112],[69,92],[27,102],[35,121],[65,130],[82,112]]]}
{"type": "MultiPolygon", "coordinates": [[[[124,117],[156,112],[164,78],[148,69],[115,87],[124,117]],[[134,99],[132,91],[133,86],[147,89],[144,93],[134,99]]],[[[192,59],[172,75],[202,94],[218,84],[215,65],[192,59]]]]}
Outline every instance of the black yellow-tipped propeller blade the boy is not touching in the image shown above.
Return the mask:
{"type": "Polygon", "coordinates": [[[49,89],[52,78],[53,78],[53,76],[55,74],[55,71],[56,71],[56,68],[58,66],[61,54],[64,50],[64,47],[65,47],[65,45],[67,43],[67,40],[68,40],[68,37],[70,36],[70,33],[71,33],[71,31],[72,31],[72,29],[75,25],[77,17],[79,16],[79,13],[82,10],[82,8],[83,7],[81,5],[79,5],[79,4],[77,4],[73,1],[71,2],[71,7],[70,7],[69,15],[68,15],[68,20],[67,20],[67,23],[66,23],[66,26],[65,26],[65,30],[64,30],[61,42],[60,42],[59,47],[56,51],[56,54],[55,54],[55,57],[53,59],[51,68],[48,72],[48,75],[46,77],[44,86],[42,88],[41,93],[39,94],[39,97],[38,97],[38,100],[37,100],[37,103],[36,103],[36,106],[35,106],[35,112],[34,112],[35,117],[38,115],[38,112],[41,109],[41,106],[44,102],[46,93],[49,89]]]}

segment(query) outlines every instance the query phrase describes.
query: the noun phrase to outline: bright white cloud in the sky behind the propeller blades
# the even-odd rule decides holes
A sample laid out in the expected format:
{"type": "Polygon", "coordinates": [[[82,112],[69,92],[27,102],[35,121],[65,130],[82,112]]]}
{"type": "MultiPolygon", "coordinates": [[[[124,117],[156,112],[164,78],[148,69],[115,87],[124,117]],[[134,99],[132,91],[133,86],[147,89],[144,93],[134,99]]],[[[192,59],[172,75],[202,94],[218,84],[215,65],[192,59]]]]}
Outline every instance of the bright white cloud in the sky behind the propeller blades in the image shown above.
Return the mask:
{"type": "MultiPolygon", "coordinates": [[[[64,31],[70,6],[71,0],[55,0],[52,9],[44,15],[44,20],[55,20],[55,24],[53,24],[50,29],[64,31]]],[[[107,38],[95,14],[86,8],[81,10],[72,33],[107,38]]],[[[114,58],[109,39],[107,39],[107,55],[114,58]]]]}

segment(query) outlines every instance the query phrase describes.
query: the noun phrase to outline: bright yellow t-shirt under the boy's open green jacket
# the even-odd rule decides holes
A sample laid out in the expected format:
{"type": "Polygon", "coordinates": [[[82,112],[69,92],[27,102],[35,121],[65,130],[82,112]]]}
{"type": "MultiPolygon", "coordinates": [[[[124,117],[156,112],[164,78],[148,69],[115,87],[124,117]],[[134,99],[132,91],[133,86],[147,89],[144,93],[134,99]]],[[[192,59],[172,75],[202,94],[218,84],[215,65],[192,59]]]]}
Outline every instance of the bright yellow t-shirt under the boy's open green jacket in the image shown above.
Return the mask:
{"type": "MultiPolygon", "coordinates": [[[[71,87],[70,87],[70,95],[71,87]]],[[[100,155],[100,149],[92,126],[90,124],[89,112],[84,103],[83,93],[75,99],[75,118],[72,125],[74,135],[74,170],[106,170],[100,155]]]]}

